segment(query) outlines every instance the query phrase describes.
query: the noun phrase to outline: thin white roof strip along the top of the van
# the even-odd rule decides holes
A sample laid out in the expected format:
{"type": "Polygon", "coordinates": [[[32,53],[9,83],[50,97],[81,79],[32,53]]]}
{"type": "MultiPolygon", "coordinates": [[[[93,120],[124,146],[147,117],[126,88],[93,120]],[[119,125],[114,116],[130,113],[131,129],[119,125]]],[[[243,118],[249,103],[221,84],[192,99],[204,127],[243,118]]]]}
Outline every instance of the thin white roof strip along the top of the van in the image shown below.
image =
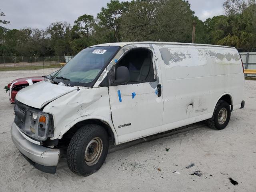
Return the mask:
{"type": "Polygon", "coordinates": [[[234,47],[220,46],[220,45],[192,44],[192,43],[175,43],[175,42],[154,42],[154,41],[105,43],[105,44],[93,45],[91,47],[98,47],[98,46],[120,46],[120,47],[123,47],[123,46],[130,45],[130,44],[171,44],[171,45],[190,45],[190,46],[211,46],[211,47],[222,47],[222,48],[234,48],[234,47]]]}

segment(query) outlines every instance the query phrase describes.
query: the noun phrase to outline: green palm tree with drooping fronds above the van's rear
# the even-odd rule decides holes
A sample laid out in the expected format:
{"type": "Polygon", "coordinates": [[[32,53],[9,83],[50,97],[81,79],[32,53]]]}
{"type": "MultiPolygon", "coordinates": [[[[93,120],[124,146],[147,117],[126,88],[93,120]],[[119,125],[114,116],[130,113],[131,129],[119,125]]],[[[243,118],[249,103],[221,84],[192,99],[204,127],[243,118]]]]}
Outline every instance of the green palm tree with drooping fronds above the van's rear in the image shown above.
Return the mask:
{"type": "Polygon", "coordinates": [[[246,14],[228,15],[216,24],[214,41],[219,45],[247,48],[255,34],[246,14]]]}

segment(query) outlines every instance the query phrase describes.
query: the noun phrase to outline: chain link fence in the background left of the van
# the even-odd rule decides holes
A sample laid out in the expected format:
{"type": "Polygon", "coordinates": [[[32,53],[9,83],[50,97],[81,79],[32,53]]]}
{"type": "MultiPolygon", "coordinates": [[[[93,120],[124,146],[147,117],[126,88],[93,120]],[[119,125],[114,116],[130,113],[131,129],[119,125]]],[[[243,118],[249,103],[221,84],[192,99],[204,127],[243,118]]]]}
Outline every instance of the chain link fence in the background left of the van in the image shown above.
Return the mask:
{"type": "Polygon", "coordinates": [[[34,66],[51,66],[65,63],[64,56],[0,56],[1,67],[28,67],[34,66]]]}

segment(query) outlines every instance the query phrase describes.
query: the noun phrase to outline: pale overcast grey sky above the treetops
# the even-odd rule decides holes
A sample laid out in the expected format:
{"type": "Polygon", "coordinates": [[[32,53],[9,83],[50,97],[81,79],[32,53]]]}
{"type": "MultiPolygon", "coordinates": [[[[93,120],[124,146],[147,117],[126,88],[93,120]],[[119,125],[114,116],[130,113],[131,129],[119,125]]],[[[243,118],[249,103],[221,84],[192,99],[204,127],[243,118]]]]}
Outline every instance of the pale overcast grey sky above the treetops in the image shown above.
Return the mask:
{"type": "MultiPolygon", "coordinates": [[[[79,16],[96,16],[110,0],[1,0],[0,12],[6,14],[1,20],[10,24],[3,25],[10,29],[25,27],[45,29],[56,21],[74,24],[79,16]]],[[[223,14],[224,0],[188,0],[191,10],[202,21],[223,14]]]]}

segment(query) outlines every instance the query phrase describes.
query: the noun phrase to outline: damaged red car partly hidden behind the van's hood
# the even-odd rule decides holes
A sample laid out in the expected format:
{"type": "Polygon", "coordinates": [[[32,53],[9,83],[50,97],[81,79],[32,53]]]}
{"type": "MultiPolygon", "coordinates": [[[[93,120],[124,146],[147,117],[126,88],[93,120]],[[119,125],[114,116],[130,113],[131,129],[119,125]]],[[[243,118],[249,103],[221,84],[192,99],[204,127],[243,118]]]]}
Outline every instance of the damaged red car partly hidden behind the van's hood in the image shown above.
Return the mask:
{"type": "MultiPolygon", "coordinates": [[[[55,72],[53,72],[50,75],[54,75],[55,72]]],[[[50,76],[48,75],[48,76],[50,76]]],[[[39,81],[44,80],[44,76],[35,76],[35,77],[25,77],[25,78],[19,78],[13,80],[11,83],[9,83],[7,86],[4,88],[6,89],[6,92],[10,90],[10,102],[13,104],[16,94],[18,93],[19,90],[22,90],[23,88],[29,86],[30,84],[37,83],[39,81]]]]}

